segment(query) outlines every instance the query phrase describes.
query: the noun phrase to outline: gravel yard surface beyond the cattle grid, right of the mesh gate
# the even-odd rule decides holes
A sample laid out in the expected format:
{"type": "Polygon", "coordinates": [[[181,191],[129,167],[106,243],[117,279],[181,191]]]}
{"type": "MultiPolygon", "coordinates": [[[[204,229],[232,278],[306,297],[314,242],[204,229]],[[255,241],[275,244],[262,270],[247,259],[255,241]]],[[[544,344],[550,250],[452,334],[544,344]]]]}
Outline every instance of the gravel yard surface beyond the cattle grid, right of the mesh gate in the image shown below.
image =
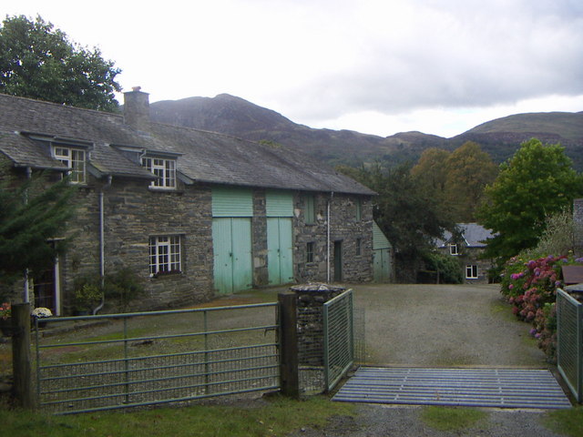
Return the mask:
{"type": "Polygon", "coordinates": [[[367,363],[407,367],[547,368],[498,285],[355,285],[367,363]]]}

